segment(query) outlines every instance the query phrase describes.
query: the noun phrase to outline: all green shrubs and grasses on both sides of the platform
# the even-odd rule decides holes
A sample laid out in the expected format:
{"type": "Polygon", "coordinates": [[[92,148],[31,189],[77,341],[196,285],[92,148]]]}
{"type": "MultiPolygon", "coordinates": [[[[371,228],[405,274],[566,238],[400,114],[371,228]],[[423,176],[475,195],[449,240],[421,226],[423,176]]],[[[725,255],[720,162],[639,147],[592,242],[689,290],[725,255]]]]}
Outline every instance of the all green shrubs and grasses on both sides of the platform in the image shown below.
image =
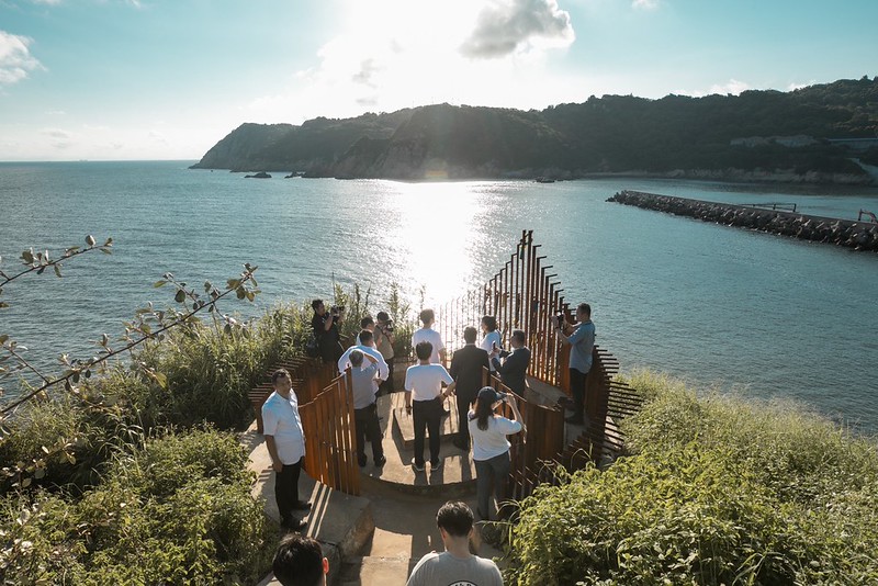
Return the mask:
{"type": "MultiPolygon", "coordinates": [[[[246,300],[255,290],[241,284],[228,291],[246,300]]],[[[149,329],[125,360],[88,363],[87,375],[68,359],[81,372],[69,388],[35,394],[3,421],[0,583],[254,584],[267,573],[278,529],[252,498],[237,432],[252,418],[249,388],[301,354],[309,305],[196,320],[191,289],[173,275],[156,285],[175,288],[176,306],[137,311],[126,338],[149,329]]],[[[372,313],[371,296],[335,288],[342,335],[372,313]]],[[[413,325],[397,286],[381,308],[406,353],[413,325]]],[[[696,393],[654,373],[628,382],[645,399],[623,421],[628,453],[559,470],[559,486],[520,503],[508,583],[878,581],[870,439],[797,405],[696,393]]]]}

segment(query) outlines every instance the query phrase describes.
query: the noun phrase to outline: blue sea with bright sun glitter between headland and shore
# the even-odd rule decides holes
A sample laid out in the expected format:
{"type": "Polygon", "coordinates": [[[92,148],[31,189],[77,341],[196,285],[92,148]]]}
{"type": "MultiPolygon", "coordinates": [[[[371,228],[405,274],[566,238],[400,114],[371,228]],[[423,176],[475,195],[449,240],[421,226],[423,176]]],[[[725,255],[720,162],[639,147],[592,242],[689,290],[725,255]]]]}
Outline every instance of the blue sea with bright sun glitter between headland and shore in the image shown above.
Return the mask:
{"type": "MultiPolygon", "coordinates": [[[[87,234],[112,256],[30,274],[3,291],[0,333],[56,369],[63,352],[122,334],[166,271],[224,284],[258,264],[258,315],[281,301],[371,288],[381,308],[398,282],[417,308],[481,284],[533,229],[567,301],[593,307],[598,343],[623,371],[666,371],[699,387],[792,398],[855,429],[878,431],[878,255],[718,226],[606,199],[622,189],[728,203],[791,202],[856,218],[878,190],[779,188],[646,179],[405,183],[244,179],[191,161],[0,164],[0,268],[29,247],[53,252],[87,234]]],[[[8,390],[9,391],[9,390],[8,390]]],[[[14,390],[13,390],[14,391],[14,390]]]]}

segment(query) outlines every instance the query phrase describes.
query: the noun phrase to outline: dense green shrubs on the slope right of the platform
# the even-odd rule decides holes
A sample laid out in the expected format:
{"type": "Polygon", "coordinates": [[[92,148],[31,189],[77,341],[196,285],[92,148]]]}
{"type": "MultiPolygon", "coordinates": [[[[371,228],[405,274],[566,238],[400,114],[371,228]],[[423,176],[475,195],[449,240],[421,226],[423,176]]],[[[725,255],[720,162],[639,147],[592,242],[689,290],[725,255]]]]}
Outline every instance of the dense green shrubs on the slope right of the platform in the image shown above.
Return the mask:
{"type": "Polygon", "coordinates": [[[639,373],[630,454],[520,505],[518,584],[871,584],[878,447],[806,408],[639,373]]]}

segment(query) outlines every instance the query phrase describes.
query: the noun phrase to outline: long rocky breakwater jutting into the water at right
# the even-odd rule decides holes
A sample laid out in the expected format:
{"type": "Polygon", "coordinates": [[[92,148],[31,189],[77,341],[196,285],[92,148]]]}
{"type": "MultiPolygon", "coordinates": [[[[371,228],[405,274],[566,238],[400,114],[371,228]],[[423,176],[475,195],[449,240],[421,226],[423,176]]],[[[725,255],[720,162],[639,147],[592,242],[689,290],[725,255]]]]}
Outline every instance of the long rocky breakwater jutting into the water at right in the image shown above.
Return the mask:
{"type": "Polygon", "coordinates": [[[878,251],[878,224],[796,212],[764,210],[728,203],[688,200],[642,191],[623,190],[608,202],[634,205],[678,216],[695,217],[725,226],[756,229],[803,240],[845,246],[854,250],[878,251]]]}

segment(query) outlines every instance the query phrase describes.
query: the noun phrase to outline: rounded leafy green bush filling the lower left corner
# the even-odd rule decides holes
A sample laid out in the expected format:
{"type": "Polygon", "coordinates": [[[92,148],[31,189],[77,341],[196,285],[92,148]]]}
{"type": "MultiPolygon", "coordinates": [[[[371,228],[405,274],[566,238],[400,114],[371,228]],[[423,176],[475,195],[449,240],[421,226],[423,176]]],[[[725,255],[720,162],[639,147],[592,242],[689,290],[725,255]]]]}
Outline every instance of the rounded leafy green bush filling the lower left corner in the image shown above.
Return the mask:
{"type": "Polygon", "coordinates": [[[7,495],[0,577],[10,584],[252,584],[268,571],[277,533],[250,495],[246,459],[227,433],[169,435],[117,458],[105,481],[80,499],[7,495]]]}

